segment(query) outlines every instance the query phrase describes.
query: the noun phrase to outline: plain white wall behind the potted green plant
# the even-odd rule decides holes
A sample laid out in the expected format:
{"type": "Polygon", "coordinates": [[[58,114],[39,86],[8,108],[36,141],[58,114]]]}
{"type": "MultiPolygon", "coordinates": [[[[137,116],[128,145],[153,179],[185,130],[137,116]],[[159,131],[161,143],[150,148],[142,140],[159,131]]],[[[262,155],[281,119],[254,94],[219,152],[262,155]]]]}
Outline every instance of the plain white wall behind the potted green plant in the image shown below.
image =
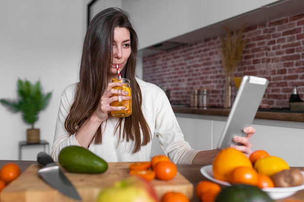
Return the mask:
{"type": "MultiPolygon", "coordinates": [[[[53,92],[35,127],[53,141],[64,88],[78,80],[88,0],[0,1],[0,98],[17,98],[17,79],[40,80],[53,92]]],[[[0,159],[17,160],[18,142],[26,140],[21,114],[0,105],[0,159]]],[[[26,147],[23,160],[35,160],[43,147],[26,147]]]]}

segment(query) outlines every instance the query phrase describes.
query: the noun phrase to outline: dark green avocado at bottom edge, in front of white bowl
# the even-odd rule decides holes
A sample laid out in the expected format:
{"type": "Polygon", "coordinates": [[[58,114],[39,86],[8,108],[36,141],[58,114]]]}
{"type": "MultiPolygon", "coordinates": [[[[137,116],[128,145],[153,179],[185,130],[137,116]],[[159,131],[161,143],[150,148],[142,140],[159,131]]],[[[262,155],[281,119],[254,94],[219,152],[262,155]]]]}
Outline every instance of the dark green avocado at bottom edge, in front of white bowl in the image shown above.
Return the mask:
{"type": "Polygon", "coordinates": [[[267,193],[252,185],[236,184],[222,188],[215,202],[274,202],[267,193]]]}

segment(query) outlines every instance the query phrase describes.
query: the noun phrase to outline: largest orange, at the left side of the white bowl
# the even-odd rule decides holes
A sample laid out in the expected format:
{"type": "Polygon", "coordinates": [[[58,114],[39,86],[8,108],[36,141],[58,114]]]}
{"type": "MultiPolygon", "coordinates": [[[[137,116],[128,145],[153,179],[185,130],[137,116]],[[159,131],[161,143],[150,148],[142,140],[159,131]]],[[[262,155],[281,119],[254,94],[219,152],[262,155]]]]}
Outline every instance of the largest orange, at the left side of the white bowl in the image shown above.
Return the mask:
{"type": "Polygon", "coordinates": [[[221,150],[213,160],[212,170],[215,179],[229,182],[229,174],[236,167],[249,167],[253,165],[249,158],[242,152],[228,147],[221,150]]]}

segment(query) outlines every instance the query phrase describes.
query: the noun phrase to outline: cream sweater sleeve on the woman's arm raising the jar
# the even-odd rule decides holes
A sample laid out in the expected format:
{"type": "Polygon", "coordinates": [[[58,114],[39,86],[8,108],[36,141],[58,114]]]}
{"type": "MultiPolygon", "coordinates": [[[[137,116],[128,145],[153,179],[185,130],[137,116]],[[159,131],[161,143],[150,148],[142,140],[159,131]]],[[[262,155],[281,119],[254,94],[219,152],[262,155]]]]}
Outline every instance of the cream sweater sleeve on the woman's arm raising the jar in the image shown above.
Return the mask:
{"type": "Polygon", "coordinates": [[[68,86],[61,95],[61,101],[57,116],[55,136],[51,149],[51,156],[54,161],[58,161],[60,151],[69,145],[80,146],[75,135],[69,135],[65,129],[65,120],[68,116],[69,109],[74,101],[74,91],[76,84],[68,86]]]}

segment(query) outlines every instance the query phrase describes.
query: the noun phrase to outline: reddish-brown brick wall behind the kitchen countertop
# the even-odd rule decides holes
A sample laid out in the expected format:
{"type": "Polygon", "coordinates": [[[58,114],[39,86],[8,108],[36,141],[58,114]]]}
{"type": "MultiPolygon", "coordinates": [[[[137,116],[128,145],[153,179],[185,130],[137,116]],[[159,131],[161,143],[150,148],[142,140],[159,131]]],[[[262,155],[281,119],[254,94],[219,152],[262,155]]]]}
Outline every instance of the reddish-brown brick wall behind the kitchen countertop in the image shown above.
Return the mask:
{"type": "MultiPolygon", "coordinates": [[[[304,100],[304,14],[248,27],[246,47],[235,76],[269,79],[262,108],[289,108],[297,85],[304,100]]],[[[191,90],[210,89],[210,105],[223,107],[225,77],[220,60],[220,36],[143,58],[143,78],[170,90],[172,103],[189,104],[191,90]]],[[[233,96],[236,87],[232,89],[233,96]]]]}

